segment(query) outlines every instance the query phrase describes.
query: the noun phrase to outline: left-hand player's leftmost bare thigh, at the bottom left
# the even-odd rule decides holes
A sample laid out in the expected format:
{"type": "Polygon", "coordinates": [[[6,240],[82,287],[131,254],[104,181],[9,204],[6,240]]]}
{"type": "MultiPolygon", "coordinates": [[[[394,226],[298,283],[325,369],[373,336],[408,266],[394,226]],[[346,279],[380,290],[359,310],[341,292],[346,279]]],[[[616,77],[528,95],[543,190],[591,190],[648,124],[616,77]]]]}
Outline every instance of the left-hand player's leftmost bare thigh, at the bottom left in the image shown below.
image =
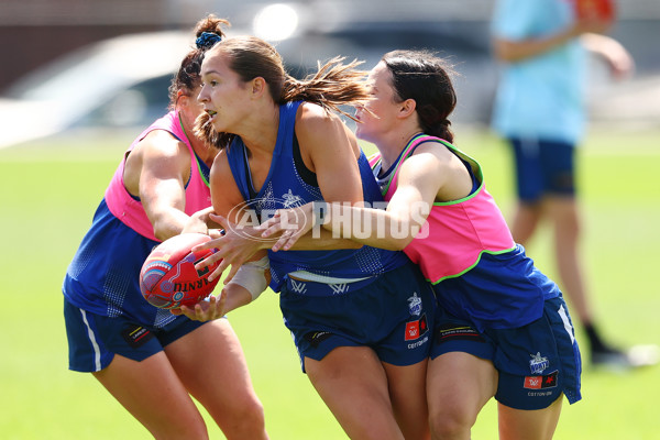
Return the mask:
{"type": "Polygon", "coordinates": [[[204,419],[164,352],[140,362],[116,354],[110,365],[92,374],[154,436],[206,436],[204,419]]]}

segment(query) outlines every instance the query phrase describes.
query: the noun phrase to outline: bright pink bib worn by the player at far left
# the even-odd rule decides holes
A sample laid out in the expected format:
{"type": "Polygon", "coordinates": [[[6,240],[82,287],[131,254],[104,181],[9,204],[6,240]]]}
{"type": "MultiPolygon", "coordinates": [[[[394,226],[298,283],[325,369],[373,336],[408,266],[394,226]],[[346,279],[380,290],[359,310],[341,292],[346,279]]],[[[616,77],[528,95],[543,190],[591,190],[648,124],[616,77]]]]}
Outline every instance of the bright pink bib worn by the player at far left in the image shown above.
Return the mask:
{"type": "Polygon", "coordinates": [[[146,136],[153,130],[165,130],[172,133],[174,136],[176,136],[176,139],[184,142],[190,152],[190,179],[186,185],[185,212],[190,216],[200,209],[211,206],[211,193],[209,190],[208,183],[199,170],[197,156],[195,155],[193,145],[190,145],[188,138],[184,133],[178,119],[178,113],[176,111],[170,111],[144,130],[142,134],[140,134],[133,141],[124,154],[124,158],[119,164],[112,180],[110,180],[110,185],[108,185],[108,188],[106,189],[105,198],[110,212],[121,220],[122,223],[133,229],[139,234],[146,237],[147,239],[158,241],[154,235],[154,228],[148,220],[148,217],[146,217],[146,212],[142,207],[142,202],[140,200],[135,200],[129,194],[123,184],[124,165],[129,153],[131,150],[133,150],[138,142],[142,141],[144,136],[146,136]]]}

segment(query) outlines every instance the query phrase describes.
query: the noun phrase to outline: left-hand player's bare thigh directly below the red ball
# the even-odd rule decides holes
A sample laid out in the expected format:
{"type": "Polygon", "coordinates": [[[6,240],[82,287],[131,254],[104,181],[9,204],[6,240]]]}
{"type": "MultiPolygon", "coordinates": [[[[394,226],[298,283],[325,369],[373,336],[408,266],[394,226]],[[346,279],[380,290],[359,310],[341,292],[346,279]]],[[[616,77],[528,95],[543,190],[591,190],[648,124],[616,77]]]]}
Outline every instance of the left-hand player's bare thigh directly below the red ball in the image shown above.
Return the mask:
{"type": "Polygon", "coordinates": [[[165,345],[186,388],[209,410],[231,411],[256,402],[243,349],[229,320],[207,322],[165,345]]]}

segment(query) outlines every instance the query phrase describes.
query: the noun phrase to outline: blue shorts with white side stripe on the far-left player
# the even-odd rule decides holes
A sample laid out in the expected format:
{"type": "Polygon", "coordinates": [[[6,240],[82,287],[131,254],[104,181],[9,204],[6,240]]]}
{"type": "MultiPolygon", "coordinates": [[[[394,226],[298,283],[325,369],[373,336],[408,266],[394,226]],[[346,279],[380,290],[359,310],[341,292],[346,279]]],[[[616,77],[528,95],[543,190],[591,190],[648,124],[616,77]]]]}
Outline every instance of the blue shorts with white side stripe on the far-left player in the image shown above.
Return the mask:
{"type": "Polygon", "coordinates": [[[156,329],[132,322],[125,317],[95,315],[73,306],[66,299],[64,321],[69,346],[69,370],[84,373],[103,370],[114,354],[143,361],[205,323],[180,316],[164,328],[156,329]]]}

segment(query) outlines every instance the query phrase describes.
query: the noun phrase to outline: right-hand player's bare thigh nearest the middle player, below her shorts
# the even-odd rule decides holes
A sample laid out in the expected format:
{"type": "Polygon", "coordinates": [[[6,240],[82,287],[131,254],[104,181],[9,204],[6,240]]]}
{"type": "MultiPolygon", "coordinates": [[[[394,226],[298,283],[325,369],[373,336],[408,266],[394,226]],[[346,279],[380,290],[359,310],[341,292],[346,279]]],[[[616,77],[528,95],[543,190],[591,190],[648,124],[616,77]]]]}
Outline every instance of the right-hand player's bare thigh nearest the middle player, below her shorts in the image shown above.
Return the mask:
{"type": "Polygon", "coordinates": [[[427,395],[431,420],[472,426],[497,391],[491,361],[452,351],[429,362],[427,395]]]}

